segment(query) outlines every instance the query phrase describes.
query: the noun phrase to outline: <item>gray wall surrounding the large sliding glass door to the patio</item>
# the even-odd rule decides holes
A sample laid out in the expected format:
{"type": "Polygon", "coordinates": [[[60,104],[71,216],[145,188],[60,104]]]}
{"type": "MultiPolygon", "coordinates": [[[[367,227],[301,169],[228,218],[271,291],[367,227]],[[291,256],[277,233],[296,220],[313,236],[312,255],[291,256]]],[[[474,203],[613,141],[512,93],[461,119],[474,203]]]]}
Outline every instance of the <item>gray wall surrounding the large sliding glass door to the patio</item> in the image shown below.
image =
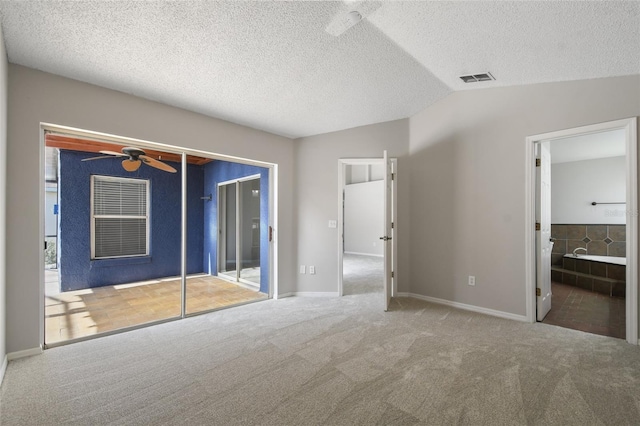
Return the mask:
{"type": "MultiPolygon", "coordinates": [[[[295,288],[293,141],[121,92],[9,65],[7,351],[38,347],[40,123],[49,122],[278,164],[280,293],[295,288]]],[[[4,158],[4,156],[0,157],[4,158]]],[[[3,304],[4,305],[4,304],[3,304]]]]}

